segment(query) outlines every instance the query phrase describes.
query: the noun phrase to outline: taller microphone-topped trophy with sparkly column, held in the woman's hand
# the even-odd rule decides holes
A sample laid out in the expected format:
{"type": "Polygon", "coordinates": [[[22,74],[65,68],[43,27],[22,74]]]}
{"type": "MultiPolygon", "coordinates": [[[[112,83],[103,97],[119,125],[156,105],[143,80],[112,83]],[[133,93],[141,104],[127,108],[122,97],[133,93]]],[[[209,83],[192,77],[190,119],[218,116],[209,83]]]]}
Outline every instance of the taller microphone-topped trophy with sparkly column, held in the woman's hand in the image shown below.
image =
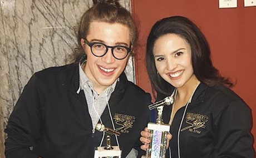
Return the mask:
{"type": "MultiPolygon", "coordinates": [[[[147,129],[150,132],[149,148],[146,151],[147,158],[163,158],[165,157],[167,134],[170,131],[170,125],[164,124],[162,119],[163,108],[165,105],[174,103],[173,96],[168,96],[164,100],[157,101],[149,105],[149,109],[157,109],[156,123],[148,123],[147,129]]],[[[145,157],[145,156],[144,156],[145,157]]]]}

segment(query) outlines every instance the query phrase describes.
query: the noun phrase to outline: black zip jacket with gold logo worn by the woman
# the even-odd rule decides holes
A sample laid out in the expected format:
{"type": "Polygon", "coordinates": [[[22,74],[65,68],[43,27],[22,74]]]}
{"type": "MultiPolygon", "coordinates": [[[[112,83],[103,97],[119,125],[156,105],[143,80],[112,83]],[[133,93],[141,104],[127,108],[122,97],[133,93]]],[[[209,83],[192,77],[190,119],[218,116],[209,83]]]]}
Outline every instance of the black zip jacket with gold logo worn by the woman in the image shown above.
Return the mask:
{"type": "MultiPolygon", "coordinates": [[[[163,98],[165,96],[159,94],[157,100],[163,98]]],[[[171,109],[171,106],[164,107],[166,124],[171,109]]],[[[176,112],[171,124],[171,157],[179,157],[178,148],[180,157],[254,157],[250,133],[252,113],[232,90],[223,85],[210,87],[201,83],[185,113],[184,110],[185,106],[176,112]]],[[[169,155],[169,151],[166,154],[169,155]]]]}

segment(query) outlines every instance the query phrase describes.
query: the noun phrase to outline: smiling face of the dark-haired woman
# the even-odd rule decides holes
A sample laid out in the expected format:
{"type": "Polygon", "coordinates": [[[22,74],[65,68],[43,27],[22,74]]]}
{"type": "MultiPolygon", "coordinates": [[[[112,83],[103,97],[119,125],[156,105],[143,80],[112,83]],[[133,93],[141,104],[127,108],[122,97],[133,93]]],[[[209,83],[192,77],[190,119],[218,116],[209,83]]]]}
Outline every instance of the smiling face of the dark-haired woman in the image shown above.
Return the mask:
{"type": "Polygon", "coordinates": [[[194,75],[190,45],[179,35],[159,37],[153,51],[159,75],[175,88],[182,88],[194,75]]]}

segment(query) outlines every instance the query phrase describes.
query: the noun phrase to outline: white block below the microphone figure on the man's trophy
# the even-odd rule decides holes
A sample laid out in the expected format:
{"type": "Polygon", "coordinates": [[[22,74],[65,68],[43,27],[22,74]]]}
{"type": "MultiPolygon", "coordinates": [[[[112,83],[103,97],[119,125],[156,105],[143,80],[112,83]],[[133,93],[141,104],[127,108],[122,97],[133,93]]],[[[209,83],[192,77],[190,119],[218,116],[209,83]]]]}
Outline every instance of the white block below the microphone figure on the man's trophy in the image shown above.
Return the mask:
{"type": "Polygon", "coordinates": [[[104,149],[105,147],[97,147],[97,150],[95,150],[95,155],[94,158],[99,158],[99,157],[119,157],[121,158],[121,150],[119,149],[118,146],[112,146],[112,150],[106,150],[104,149]]]}

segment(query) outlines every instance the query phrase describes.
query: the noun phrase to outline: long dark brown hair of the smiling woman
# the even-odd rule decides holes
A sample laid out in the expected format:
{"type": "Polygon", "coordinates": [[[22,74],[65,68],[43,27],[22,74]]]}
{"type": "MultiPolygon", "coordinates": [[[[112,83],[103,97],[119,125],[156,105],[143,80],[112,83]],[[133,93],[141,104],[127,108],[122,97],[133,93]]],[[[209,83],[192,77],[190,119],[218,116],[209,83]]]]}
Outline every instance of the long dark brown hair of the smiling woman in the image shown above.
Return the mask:
{"type": "Polygon", "coordinates": [[[191,47],[191,60],[196,78],[208,86],[224,84],[233,86],[229,79],[221,77],[219,70],[213,66],[210,47],[201,30],[188,18],[174,16],[161,19],[152,27],[146,45],[146,67],[152,88],[163,94],[170,94],[174,87],[157,74],[154,59],[155,41],[165,34],[177,34],[185,39],[191,47]]]}

